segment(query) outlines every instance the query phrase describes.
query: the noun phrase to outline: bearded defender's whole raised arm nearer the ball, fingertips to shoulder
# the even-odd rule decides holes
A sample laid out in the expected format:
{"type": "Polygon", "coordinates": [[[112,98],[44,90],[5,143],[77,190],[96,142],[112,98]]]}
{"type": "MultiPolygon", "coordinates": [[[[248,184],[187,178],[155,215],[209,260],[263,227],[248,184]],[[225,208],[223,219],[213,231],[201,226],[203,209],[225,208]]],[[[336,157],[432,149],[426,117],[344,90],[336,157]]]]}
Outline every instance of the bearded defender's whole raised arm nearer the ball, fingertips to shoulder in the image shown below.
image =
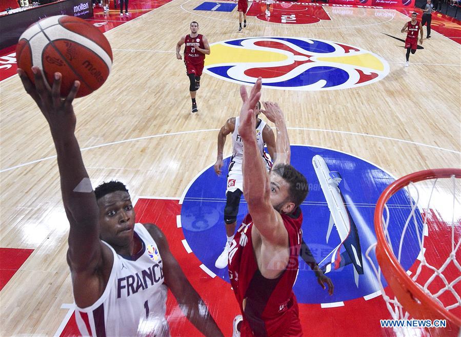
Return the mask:
{"type": "MultiPolygon", "coordinates": [[[[272,246],[288,247],[288,233],[280,214],[272,207],[269,175],[263,161],[260,159],[254,129],[256,119],[253,116],[254,107],[260,97],[262,80],[259,78],[248,97],[244,86],[240,88],[243,106],[240,110],[240,125],[238,134],[243,141],[243,184],[244,196],[254,226],[263,236],[263,242],[272,246]]],[[[264,274],[263,274],[264,275],[264,274]]]]}

